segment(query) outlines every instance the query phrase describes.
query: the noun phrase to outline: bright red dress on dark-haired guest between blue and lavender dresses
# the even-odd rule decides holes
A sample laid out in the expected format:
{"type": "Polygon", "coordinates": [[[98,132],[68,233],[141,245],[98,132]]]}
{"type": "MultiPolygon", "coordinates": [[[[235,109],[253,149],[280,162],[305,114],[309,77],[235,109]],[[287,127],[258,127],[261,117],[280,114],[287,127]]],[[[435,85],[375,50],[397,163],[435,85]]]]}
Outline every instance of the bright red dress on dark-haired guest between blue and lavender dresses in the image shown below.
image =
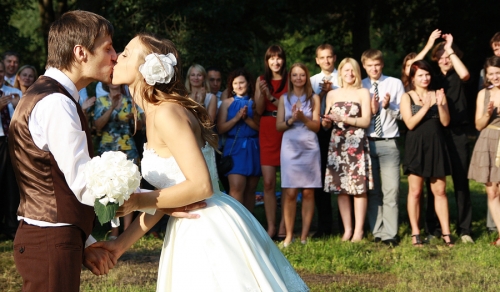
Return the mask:
{"type": "MultiPolygon", "coordinates": [[[[260,76],[264,80],[264,76],[260,76]]],[[[280,97],[288,91],[288,83],[283,90],[276,92],[280,87],[281,80],[271,80],[271,86],[274,92],[271,94],[274,98],[280,97]]],[[[265,110],[268,112],[277,111],[278,108],[269,100],[265,99],[265,110]]],[[[260,119],[259,142],[260,142],[260,161],[262,165],[279,166],[281,139],[283,133],[276,130],[276,117],[262,116],[260,119]]]]}

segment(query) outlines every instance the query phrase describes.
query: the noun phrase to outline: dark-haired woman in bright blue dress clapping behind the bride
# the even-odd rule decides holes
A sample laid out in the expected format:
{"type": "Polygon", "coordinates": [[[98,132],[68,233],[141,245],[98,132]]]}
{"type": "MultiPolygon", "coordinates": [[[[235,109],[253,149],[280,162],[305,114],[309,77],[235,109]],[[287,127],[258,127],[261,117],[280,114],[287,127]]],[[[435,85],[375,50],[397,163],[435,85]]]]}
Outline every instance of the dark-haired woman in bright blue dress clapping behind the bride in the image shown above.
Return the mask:
{"type": "Polygon", "coordinates": [[[232,97],[224,100],[219,109],[217,129],[227,133],[222,156],[230,155],[234,166],[226,174],[229,195],[242,203],[250,212],[255,205],[255,189],[262,175],[259,153],[259,124],[255,120],[253,94],[255,87],[245,69],[229,74],[228,92],[232,97]]]}

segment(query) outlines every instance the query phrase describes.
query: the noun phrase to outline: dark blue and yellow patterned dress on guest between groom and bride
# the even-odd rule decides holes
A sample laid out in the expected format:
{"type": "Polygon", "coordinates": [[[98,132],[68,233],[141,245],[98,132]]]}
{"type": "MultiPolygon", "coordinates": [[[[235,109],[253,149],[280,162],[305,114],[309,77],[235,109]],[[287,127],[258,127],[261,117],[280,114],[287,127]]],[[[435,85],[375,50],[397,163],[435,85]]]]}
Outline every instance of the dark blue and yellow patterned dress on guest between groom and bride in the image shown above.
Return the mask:
{"type": "MultiPolygon", "coordinates": [[[[108,96],[101,96],[96,99],[94,120],[99,119],[109,108],[111,101],[108,96]]],[[[127,159],[137,163],[139,152],[132,138],[133,127],[128,115],[132,113],[132,101],[129,97],[122,95],[122,107],[120,110],[113,110],[109,121],[101,130],[101,141],[99,142],[98,154],[105,151],[122,151],[127,154],[127,159]]]]}

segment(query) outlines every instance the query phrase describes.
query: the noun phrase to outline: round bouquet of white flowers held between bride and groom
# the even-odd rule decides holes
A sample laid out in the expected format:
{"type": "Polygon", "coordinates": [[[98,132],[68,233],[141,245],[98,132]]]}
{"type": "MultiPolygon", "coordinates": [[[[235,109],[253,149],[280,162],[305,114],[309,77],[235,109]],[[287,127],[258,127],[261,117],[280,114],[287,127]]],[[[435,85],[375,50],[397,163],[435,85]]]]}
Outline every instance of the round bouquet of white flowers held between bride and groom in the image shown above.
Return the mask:
{"type": "Polygon", "coordinates": [[[139,187],[139,168],[127,155],[107,151],[85,165],[85,181],[94,196],[94,211],[101,225],[115,217],[118,207],[139,187]]]}

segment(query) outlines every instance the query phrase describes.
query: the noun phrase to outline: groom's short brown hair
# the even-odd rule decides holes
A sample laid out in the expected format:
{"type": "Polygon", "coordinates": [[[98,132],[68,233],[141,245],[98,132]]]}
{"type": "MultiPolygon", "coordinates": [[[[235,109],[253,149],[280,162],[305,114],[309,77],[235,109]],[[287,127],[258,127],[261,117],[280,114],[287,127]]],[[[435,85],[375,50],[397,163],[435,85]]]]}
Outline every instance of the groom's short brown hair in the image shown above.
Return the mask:
{"type": "Polygon", "coordinates": [[[113,32],[113,25],[106,18],[95,13],[83,10],[64,13],[50,26],[45,68],[70,70],[75,61],[73,48],[76,45],[81,45],[93,53],[97,38],[113,37],[113,32]]]}

